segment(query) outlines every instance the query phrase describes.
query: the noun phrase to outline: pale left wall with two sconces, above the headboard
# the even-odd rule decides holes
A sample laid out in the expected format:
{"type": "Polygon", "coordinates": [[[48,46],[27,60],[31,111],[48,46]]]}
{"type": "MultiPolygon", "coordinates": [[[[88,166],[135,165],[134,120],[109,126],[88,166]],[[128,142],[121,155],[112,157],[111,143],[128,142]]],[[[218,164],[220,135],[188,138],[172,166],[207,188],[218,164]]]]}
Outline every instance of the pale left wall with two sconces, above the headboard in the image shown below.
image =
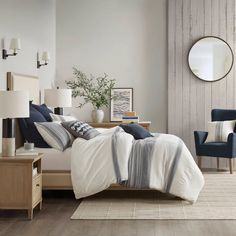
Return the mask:
{"type": "Polygon", "coordinates": [[[0,40],[6,38],[9,43],[12,37],[19,37],[22,44],[16,57],[0,58],[0,89],[6,88],[7,71],[37,75],[41,88],[51,86],[55,78],[55,9],[55,0],[0,0],[0,40]],[[38,50],[48,50],[52,57],[41,69],[36,68],[38,50]]]}

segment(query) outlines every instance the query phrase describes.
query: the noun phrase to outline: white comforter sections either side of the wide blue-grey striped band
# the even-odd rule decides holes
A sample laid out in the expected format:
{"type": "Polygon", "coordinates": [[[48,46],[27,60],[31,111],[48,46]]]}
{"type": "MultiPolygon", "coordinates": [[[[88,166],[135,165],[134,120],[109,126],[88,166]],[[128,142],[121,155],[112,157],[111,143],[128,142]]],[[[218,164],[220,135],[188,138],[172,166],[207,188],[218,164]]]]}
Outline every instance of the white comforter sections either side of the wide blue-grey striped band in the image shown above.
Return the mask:
{"type": "MultiPolygon", "coordinates": [[[[98,193],[117,183],[112,157],[112,137],[116,131],[116,128],[112,128],[91,140],[78,138],[74,141],[71,176],[77,199],[98,193]]],[[[120,128],[116,135],[116,154],[122,181],[128,180],[133,142],[133,136],[120,128]]],[[[155,139],[149,187],[195,202],[203,185],[203,175],[183,141],[174,135],[159,135],[155,139]],[[173,169],[179,145],[181,153],[173,169]]]]}

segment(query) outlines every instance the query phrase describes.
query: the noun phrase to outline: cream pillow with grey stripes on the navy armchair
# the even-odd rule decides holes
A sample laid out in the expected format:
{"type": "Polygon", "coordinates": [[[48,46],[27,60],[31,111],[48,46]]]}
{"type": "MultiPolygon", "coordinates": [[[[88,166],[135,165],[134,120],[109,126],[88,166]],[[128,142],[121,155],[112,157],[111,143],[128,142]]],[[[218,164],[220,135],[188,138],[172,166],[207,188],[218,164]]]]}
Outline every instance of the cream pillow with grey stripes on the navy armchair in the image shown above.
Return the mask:
{"type": "Polygon", "coordinates": [[[234,132],[235,120],[208,122],[208,135],[205,143],[227,142],[228,135],[234,132]]]}

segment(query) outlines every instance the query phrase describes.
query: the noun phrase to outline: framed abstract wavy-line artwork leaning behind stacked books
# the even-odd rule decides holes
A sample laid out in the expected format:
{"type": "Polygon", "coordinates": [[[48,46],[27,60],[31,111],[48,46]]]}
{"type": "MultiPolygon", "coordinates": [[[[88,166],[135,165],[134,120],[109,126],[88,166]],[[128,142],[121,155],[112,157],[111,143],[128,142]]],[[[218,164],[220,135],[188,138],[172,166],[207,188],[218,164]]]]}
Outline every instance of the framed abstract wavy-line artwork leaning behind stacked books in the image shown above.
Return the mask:
{"type": "Polygon", "coordinates": [[[111,89],[110,121],[122,121],[126,111],[133,111],[133,88],[111,89]]]}

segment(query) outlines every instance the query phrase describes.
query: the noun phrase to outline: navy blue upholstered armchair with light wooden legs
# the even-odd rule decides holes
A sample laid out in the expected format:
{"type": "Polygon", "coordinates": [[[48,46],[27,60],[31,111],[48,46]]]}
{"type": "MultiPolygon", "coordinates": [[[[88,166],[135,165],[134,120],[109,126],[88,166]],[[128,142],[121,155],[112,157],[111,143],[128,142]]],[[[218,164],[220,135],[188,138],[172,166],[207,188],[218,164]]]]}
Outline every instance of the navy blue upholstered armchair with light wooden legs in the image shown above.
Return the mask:
{"type": "MultiPolygon", "coordinates": [[[[213,109],[211,111],[211,119],[212,121],[236,120],[236,110],[213,109]]],[[[235,131],[236,130],[234,130],[234,132],[235,131]]],[[[227,143],[204,143],[207,134],[207,132],[203,131],[194,131],[195,148],[199,168],[201,168],[202,156],[217,157],[217,169],[219,169],[219,158],[229,158],[230,174],[232,174],[232,159],[236,157],[236,133],[229,134],[227,143]]]]}

